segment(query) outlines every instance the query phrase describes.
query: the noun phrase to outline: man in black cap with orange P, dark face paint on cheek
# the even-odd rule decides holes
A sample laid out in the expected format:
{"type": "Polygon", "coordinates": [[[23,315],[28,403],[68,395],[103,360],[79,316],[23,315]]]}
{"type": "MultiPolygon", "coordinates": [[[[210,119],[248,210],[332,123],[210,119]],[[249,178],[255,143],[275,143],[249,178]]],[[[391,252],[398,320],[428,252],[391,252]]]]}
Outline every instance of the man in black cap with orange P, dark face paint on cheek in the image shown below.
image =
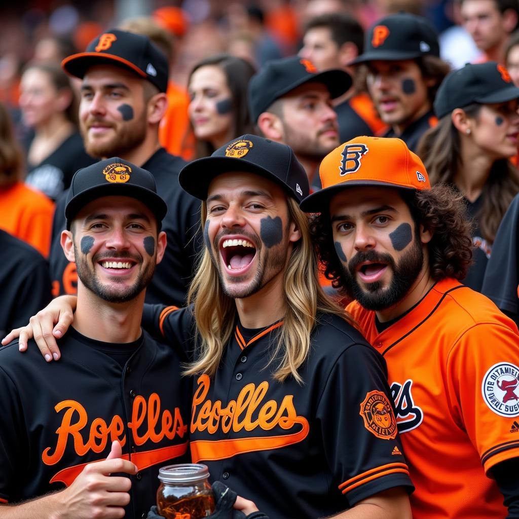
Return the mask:
{"type": "Polygon", "coordinates": [[[432,104],[449,71],[440,58],[438,35],[420,16],[398,13],[374,23],[366,32],[364,52],[352,64],[365,64],[367,89],[380,118],[416,151],[436,118],[432,104]]]}

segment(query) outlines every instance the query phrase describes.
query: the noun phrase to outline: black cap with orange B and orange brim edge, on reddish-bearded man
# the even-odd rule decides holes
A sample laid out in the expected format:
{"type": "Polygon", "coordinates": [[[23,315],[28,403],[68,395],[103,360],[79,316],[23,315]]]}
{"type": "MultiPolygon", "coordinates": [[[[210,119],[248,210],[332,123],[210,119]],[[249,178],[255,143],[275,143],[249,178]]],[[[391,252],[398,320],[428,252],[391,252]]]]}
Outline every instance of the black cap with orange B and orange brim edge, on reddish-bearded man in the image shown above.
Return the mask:
{"type": "Polygon", "coordinates": [[[168,60],[143,34],[111,29],[92,40],[85,52],[66,57],[61,66],[71,76],[83,79],[93,65],[119,65],[155,85],[160,92],[168,88],[168,60]]]}

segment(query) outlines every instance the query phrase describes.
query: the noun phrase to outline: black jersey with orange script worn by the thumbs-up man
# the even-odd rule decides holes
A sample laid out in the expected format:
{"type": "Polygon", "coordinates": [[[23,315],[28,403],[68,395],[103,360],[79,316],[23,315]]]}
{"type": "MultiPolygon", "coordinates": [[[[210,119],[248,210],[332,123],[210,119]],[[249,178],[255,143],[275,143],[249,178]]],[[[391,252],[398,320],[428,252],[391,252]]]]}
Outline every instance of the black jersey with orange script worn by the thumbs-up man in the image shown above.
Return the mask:
{"type": "Polygon", "coordinates": [[[69,486],[119,440],[139,469],[128,476],[126,517],[145,516],[159,468],[185,462],[190,380],[181,379],[173,349],[145,332],[135,343],[112,345],[71,328],[58,344],[63,357],[48,364],[35,344],[23,355],[17,342],[0,348],[0,500],[69,486]],[[116,346],[129,353],[124,367],[112,357],[116,346]]]}

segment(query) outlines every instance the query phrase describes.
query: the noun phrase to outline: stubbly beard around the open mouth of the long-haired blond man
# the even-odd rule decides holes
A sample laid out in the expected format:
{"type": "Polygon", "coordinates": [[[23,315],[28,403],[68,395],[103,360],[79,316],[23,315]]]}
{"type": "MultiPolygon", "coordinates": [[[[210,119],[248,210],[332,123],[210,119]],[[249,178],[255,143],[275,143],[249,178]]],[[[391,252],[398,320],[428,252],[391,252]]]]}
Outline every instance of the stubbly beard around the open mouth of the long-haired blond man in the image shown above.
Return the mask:
{"type": "MultiPolygon", "coordinates": [[[[228,234],[233,233],[223,232],[219,233],[216,236],[213,243],[213,247],[216,251],[218,251],[218,242],[220,241],[220,239],[228,234]]],[[[276,277],[279,274],[279,272],[281,272],[284,269],[286,262],[286,250],[283,249],[282,243],[275,245],[271,249],[265,248],[265,255],[262,258],[261,252],[264,244],[260,240],[256,239],[256,237],[250,236],[247,233],[242,232],[240,234],[247,237],[252,243],[255,244],[258,256],[256,274],[254,275],[253,279],[249,282],[248,285],[241,286],[239,288],[237,286],[233,286],[234,283],[238,284],[245,281],[245,279],[247,279],[247,276],[233,277],[229,281],[226,272],[222,267],[223,260],[220,252],[217,253],[218,259],[216,260],[213,251],[209,251],[211,261],[214,267],[216,268],[216,272],[218,273],[218,279],[220,280],[222,292],[231,299],[242,299],[245,297],[250,297],[251,295],[254,295],[257,292],[259,292],[270,280],[272,280],[272,278],[276,277]]]]}

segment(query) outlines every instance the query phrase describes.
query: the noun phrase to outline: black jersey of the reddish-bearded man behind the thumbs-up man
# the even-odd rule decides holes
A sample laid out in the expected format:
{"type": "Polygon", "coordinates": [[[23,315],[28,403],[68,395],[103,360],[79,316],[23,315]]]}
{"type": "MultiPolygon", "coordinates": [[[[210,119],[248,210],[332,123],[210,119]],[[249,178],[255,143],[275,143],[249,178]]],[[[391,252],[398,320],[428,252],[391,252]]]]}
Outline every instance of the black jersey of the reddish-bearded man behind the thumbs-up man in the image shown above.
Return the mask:
{"type": "MultiPolygon", "coordinates": [[[[162,220],[168,244],[162,261],[157,265],[151,283],[146,289],[147,303],[184,305],[189,282],[194,272],[196,254],[201,247],[197,232],[200,227],[200,201],[188,195],[179,184],[179,172],[186,162],[160,148],[143,165],[151,172],[157,184],[157,193],[168,204],[168,213],[162,220]]],[[[69,263],[60,245],[65,224],[66,194],[57,203],[52,224],[50,272],[52,295],[76,294],[76,265],[69,263]]]]}

